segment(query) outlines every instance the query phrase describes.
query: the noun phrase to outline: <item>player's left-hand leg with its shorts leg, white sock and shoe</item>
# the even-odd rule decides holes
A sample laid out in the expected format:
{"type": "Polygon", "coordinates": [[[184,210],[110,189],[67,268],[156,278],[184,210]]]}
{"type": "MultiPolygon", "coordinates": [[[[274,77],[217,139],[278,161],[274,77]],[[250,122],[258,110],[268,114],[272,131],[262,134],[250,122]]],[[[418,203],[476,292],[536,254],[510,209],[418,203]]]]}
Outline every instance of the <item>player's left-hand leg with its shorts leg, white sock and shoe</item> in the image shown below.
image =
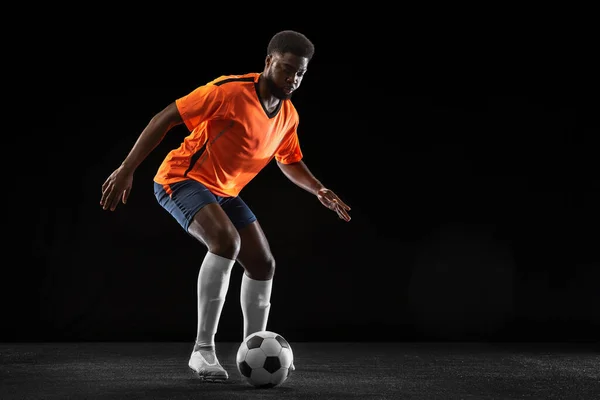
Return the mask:
{"type": "Polygon", "coordinates": [[[215,334],[240,250],[240,236],[216,197],[198,182],[188,180],[166,187],[155,184],[155,195],[182,228],[208,249],[198,273],[198,325],[188,366],[201,379],[224,381],[228,374],[216,356],[215,334]]]}

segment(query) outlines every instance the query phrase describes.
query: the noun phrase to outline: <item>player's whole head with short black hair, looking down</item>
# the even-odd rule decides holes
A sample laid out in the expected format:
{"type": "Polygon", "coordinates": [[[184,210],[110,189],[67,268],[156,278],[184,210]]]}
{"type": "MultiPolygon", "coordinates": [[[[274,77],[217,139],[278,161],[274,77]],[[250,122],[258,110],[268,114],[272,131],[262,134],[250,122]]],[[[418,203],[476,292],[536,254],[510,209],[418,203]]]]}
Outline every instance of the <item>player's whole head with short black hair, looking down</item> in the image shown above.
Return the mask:
{"type": "Polygon", "coordinates": [[[285,100],[292,97],[315,53],[313,43],[300,32],[276,33],[267,47],[263,76],[271,94],[285,100]]]}

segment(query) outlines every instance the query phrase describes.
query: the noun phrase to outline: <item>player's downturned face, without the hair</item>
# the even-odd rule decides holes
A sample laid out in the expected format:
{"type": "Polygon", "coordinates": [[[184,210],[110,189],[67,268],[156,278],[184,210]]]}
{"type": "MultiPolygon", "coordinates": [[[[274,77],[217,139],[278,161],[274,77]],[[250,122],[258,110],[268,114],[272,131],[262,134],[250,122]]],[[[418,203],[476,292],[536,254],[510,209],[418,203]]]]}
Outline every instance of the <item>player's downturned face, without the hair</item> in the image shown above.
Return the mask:
{"type": "Polygon", "coordinates": [[[302,82],[308,67],[308,58],[292,53],[267,56],[265,78],[269,91],[280,100],[292,97],[302,82]]]}

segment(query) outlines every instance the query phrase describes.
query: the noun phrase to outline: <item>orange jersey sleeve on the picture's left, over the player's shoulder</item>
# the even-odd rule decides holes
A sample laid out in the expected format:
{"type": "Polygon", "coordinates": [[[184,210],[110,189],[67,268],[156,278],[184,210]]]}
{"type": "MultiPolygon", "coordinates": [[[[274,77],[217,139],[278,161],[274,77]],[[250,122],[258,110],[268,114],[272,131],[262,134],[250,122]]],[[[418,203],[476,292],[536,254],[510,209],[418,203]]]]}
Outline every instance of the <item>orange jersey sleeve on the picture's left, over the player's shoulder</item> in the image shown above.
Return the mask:
{"type": "Polygon", "coordinates": [[[228,103],[218,86],[208,84],[175,100],[175,104],[185,126],[192,131],[203,121],[224,116],[228,103]]]}

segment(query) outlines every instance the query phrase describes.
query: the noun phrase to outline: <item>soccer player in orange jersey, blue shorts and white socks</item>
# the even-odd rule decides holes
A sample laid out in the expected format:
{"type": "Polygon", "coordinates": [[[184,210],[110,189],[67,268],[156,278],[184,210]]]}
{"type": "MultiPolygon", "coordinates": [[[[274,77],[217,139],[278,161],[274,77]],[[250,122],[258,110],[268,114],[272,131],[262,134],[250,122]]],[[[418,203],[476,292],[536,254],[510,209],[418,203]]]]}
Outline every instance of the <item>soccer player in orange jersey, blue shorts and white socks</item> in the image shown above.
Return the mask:
{"type": "Polygon", "coordinates": [[[136,168],[173,127],[189,130],[154,176],[154,194],[189,235],[207,248],[197,281],[197,333],[188,365],[207,381],[228,374],[215,352],[215,334],[236,261],[244,268],[240,303],[243,338],[265,330],[275,261],[241,190],[274,158],[283,174],[344,221],[345,204],[302,161],[298,112],[291,97],[314,54],[302,33],[275,34],[262,72],[216,78],[158,112],[121,165],[102,185],[100,205],[126,204],[136,168]]]}

